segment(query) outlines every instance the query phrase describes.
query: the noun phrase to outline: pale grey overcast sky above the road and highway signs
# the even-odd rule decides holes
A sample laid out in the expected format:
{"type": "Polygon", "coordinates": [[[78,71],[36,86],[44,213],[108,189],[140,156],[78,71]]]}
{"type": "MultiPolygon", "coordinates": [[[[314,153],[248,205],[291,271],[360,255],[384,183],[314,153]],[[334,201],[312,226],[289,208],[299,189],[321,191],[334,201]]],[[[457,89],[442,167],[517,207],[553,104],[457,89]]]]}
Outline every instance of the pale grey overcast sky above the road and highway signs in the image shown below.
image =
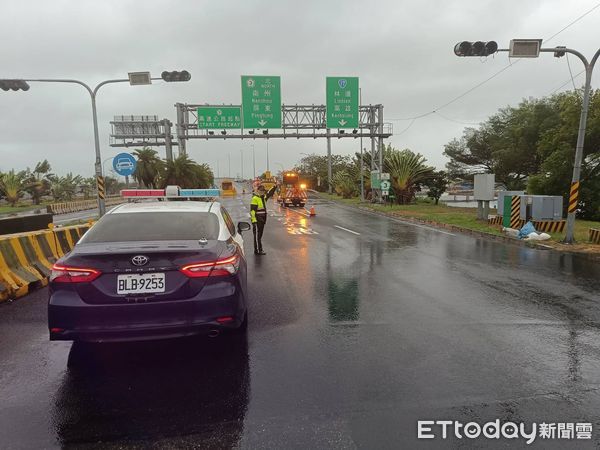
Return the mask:
{"type": "MultiPolygon", "coordinates": [[[[506,53],[458,58],[462,40],[549,38],[597,1],[125,1],[2,0],[0,78],[75,78],[90,85],[131,71],[186,69],[188,83],[108,85],[98,95],[102,159],[124,151],[109,144],[114,115],[159,115],[175,121],[176,102],[240,102],[240,75],[281,76],[283,103],[324,104],[325,77],[358,76],[363,104],[384,105],[393,123],[387,141],[410,148],[442,168],[444,144],[469,123],[525,97],[548,95],[570,80],[566,58],[519,60],[460,100],[435,110],[509,64],[506,53]],[[442,117],[440,114],[443,114],[442,117]],[[410,125],[410,127],[409,127],[410,125]],[[408,129],[407,129],[408,128],[408,129]]],[[[590,58],[600,47],[600,8],[545,42],[590,58]]],[[[517,60],[513,60],[513,64],[517,60]]],[[[570,59],[574,74],[582,64],[570,59]]],[[[597,69],[597,72],[600,68],[597,69]]],[[[593,81],[597,83],[596,73],[593,81]]],[[[583,76],[575,79],[579,87],[583,76]]],[[[572,84],[561,90],[572,89],[572,84]]],[[[0,91],[0,171],[33,167],[47,158],[53,171],[93,174],[89,95],[77,85],[31,83],[27,92],[0,91]]],[[[368,144],[365,142],[364,146],[368,144]]],[[[256,168],[266,167],[265,141],[255,142],[256,168]]],[[[359,141],[335,139],[338,154],[359,141]]],[[[126,150],[125,150],[126,151],[126,150]]],[[[175,149],[175,151],[177,151],[175,149]]],[[[220,175],[252,174],[250,141],[191,140],[189,155],[220,175]]],[[[159,148],[164,157],[164,148],[159,148]]],[[[322,140],[270,140],[271,170],[300,153],[326,153],[322,140]]]]}

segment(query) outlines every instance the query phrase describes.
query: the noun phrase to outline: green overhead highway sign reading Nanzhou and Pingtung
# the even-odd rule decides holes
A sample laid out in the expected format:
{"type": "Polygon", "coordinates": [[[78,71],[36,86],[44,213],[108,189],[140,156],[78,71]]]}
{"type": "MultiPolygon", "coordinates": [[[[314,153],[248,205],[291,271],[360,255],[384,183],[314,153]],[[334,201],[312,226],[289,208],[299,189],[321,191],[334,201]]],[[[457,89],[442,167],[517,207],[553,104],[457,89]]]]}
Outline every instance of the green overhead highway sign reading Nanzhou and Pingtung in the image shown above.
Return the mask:
{"type": "Polygon", "coordinates": [[[244,128],[281,128],[280,77],[242,75],[244,128]]]}

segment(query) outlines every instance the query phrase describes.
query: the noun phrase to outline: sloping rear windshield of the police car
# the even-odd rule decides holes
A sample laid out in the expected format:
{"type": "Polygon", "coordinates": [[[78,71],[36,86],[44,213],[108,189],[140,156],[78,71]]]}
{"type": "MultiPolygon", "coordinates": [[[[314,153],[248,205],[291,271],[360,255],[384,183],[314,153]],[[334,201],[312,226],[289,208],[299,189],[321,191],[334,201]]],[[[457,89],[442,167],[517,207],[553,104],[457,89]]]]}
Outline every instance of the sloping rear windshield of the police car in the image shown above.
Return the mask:
{"type": "Polygon", "coordinates": [[[217,239],[219,221],[209,212],[137,212],[107,214],[82,243],[217,239]]]}

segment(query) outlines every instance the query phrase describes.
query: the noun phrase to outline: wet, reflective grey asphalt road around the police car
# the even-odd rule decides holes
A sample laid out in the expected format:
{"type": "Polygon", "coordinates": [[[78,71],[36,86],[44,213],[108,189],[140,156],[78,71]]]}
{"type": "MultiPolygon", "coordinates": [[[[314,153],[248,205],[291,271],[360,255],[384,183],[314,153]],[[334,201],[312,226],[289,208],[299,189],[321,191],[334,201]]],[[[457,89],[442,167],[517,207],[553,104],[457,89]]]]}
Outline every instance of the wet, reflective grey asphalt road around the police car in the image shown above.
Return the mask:
{"type": "Polygon", "coordinates": [[[46,289],[0,305],[0,448],[524,446],[416,439],[444,419],[600,445],[599,264],[314,203],[271,206],[265,257],[245,235],[247,341],[51,343],[46,289]]]}

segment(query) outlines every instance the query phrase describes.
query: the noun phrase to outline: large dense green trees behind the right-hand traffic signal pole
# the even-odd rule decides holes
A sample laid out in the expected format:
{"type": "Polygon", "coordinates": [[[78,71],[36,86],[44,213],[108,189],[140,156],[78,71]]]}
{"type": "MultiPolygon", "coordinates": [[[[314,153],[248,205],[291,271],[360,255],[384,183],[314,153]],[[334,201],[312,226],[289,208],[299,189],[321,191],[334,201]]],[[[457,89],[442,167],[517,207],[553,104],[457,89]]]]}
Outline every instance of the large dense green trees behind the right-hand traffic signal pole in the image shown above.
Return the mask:
{"type": "MultiPolygon", "coordinates": [[[[494,173],[509,190],[562,195],[568,203],[581,113],[581,91],[523,100],[466,128],[444,148],[451,177],[494,173]]],[[[600,220],[600,91],[591,92],[578,216],[600,220]]]]}

